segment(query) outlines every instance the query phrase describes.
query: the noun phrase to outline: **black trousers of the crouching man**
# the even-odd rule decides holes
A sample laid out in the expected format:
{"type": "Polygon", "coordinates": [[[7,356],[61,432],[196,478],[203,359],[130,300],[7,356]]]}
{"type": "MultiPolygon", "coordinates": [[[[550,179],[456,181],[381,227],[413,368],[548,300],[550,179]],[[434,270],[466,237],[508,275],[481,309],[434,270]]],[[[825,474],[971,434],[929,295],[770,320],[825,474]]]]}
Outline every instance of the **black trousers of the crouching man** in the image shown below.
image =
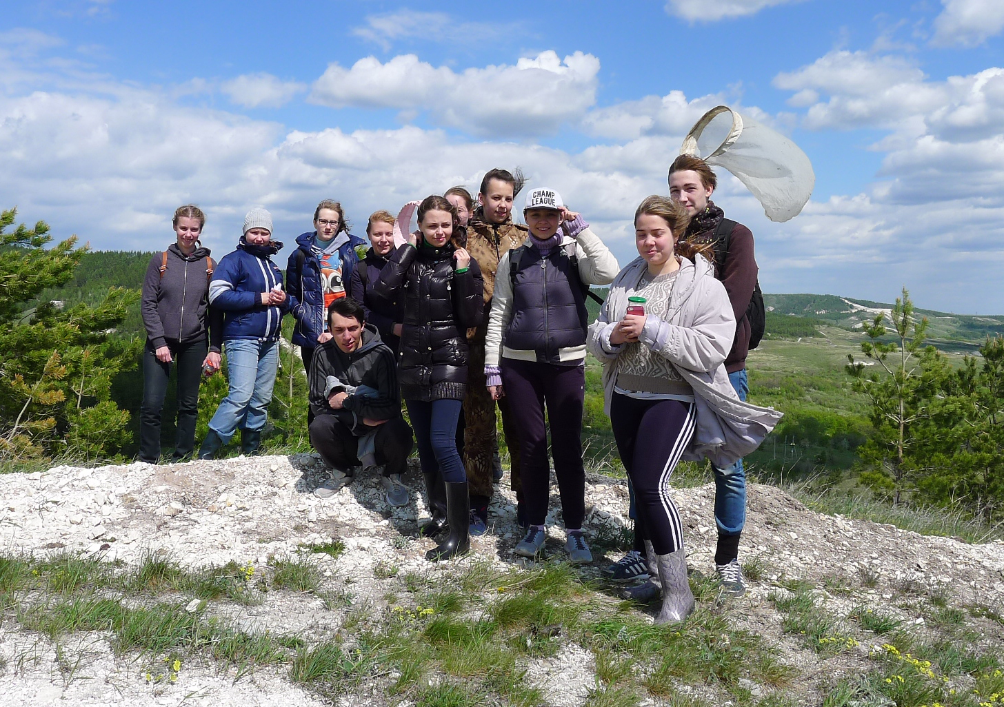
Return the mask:
{"type": "MultiPolygon", "coordinates": [[[[373,440],[376,446],[376,463],[384,465],[384,475],[405,473],[408,455],[412,453],[412,428],[403,417],[395,417],[380,425],[373,440]]],[[[359,465],[357,456],[359,438],[337,417],[323,414],[310,423],[310,444],[324,463],[332,468],[350,473],[359,465]]]]}

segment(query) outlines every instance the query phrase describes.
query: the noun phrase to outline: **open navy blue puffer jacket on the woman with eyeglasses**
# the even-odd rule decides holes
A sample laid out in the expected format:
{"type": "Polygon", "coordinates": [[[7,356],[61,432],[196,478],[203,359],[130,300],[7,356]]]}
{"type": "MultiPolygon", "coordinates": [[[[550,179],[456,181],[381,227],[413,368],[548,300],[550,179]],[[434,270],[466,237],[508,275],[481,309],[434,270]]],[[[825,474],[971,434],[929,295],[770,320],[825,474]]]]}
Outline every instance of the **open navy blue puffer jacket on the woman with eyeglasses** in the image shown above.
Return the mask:
{"type": "MultiPolygon", "coordinates": [[[[348,241],[338,248],[338,259],[341,261],[341,282],[347,296],[352,269],[359,262],[355,247],[364,246],[366,242],[358,236],[344,235],[348,241]]],[[[335,238],[340,236],[338,234],[335,238]]],[[[310,248],[313,237],[314,232],[308,231],[296,238],[297,248],[289,255],[286,265],[286,291],[296,301],[292,309],[296,317],[293,343],[309,349],[317,346],[317,337],[324,331],[324,292],[320,282],[320,261],[310,248]]]]}

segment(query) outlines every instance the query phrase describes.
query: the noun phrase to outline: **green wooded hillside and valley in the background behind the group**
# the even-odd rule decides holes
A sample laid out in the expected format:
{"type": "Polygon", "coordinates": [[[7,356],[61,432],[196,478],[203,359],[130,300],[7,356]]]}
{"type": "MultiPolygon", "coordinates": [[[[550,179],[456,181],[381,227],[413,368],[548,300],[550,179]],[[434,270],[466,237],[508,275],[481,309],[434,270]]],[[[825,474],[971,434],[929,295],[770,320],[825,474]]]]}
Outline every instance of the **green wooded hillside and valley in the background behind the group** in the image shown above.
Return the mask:
{"type": "MultiPolygon", "coordinates": [[[[108,399],[123,412],[121,424],[124,426],[118,446],[113,449],[108,447],[110,454],[101,453],[105,454],[105,458],[109,455],[132,458],[137,451],[139,408],[143,396],[143,377],[139,372],[142,370],[141,354],[145,336],[139,310],[139,290],[155,254],[96,252],[78,253],[76,257],[79,265],[72,269],[71,276],[61,285],[40,290],[36,297],[25,303],[25,315],[37,316],[37,313],[50,310],[68,313],[84,306],[99,308],[106,302],[109,292],[121,293],[116,295],[119,298],[116,306],[121,308],[121,316],[101,336],[108,342],[104,346],[116,347],[115,350],[119,352],[117,355],[127,356],[111,372],[107,381],[108,399]],[[36,314],[33,315],[33,312],[36,314]]],[[[284,263],[280,262],[279,265],[282,267],[284,263]]],[[[600,296],[606,294],[603,289],[595,291],[600,296]]],[[[860,478],[866,478],[866,475],[862,477],[861,474],[868,463],[865,463],[867,454],[874,456],[873,440],[878,433],[874,425],[881,418],[874,416],[873,401],[863,394],[865,388],[848,375],[845,367],[848,354],[856,359],[861,358],[861,344],[867,341],[864,333],[876,314],[881,311],[888,313],[890,306],[831,295],[768,294],[764,299],[768,307],[766,333],[759,348],[750,352],[748,359],[750,400],[774,406],[784,411],[785,417],[760,449],[747,457],[748,473],[760,480],[812,477],[826,486],[850,488],[860,478]],[[865,456],[862,456],[865,452],[865,456]]],[[[599,305],[590,299],[588,309],[590,317],[595,317],[599,305]]],[[[928,313],[924,310],[917,310],[917,314],[929,318],[931,341],[950,354],[937,359],[943,363],[936,361],[937,365],[943,367],[941,373],[937,373],[935,363],[925,364],[929,366],[928,370],[937,373],[945,381],[955,380],[953,376],[957,377],[959,382],[951,383],[957,388],[966,385],[964,374],[967,370],[969,378],[977,380],[979,359],[956,358],[956,355],[960,351],[974,352],[986,341],[987,336],[1004,332],[1004,317],[974,317],[933,311],[928,313]]],[[[888,314],[884,316],[887,316],[888,322],[888,314]]],[[[284,327],[287,330],[287,340],[291,326],[292,322],[289,320],[284,327]]],[[[889,330],[876,341],[888,345],[895,340],[892,330],[889,330]]],[[[934,353],[931,355],[938,356],[934,353]]],[[[866,361],[864,365],[871,366],[860,369],[865,373],[880,370],[875,361],[866,361]]],[[[590,358],[586,368],[583,441],[594,468],[622,473],[609,420],[602,411],[600,375],[599,363],[590,358]]],[[[308,448],[305,434],[305,392],[302,364],[293,347],[286,346],[282,351],[279,380],[270,409],[270,427],[266,436],[268,447],[284,451],[308,448]]],[[[950,390],[948,392],[951,393],[950,390]]],[[[223,375],[216,375],[205,381],[200,401],[200,437],[205,433],[206,424],[225,393],[226,380],[223,375]]],[[[169,448],[173,441],[173,391],[169,389],[163,425],[165,448],[169,448]]],[[[65,422],[57,421],[57,428],[61,429],[59,425],[62,424],[65,422]]],[[[69,430],[70,427],[66,429],[69,430]]],[[[99,460],[101,453],[94,453],[96,456],[93,459],[99,460]]],[[[982,462],[972,463],[978,465],[982,462]]],[[[706,471],[701,472],[698,467],[689,465],[683,467],[681,473],[706,471]]],[[[873,478],[872,481],[874,480],[873,478]]],[[[899,484],[900,480],[896,483],[899,484]]],[[[888,490],[884,490],[877,481],[871,487],[880,495],[888,490]]],[[[915,484],[913,492],[919,494],[918,498],[924,497],[930,501],[951,497],[953,491],[946,491],[944,488],[923,489],[915,484]]],[[[990,491],[983,488],[979,492],[990,491]]],[[[897,493],[899,497],[900,491],[897,490],[897,493]]],[[[1004,498],[1004,488],[999,493],[1004,498]]]]}

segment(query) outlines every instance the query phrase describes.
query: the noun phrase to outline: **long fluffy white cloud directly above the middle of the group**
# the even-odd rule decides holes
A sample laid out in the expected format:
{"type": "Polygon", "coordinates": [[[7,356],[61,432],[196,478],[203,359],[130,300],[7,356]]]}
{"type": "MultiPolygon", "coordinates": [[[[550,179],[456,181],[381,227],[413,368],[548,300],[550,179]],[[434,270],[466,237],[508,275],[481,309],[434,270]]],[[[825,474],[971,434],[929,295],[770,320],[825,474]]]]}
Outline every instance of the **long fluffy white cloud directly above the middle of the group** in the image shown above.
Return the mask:
{"type": "Polygon", "coordinates": [[[426,111],[439,124],[472,134],[528,136],[577,121],[596,99],[599,60],[553,51],[456,72],[414,54],[381,62],[369,56],[350,68],[330,64],[310,100],[334,108],[357,106],[426,111]]]}

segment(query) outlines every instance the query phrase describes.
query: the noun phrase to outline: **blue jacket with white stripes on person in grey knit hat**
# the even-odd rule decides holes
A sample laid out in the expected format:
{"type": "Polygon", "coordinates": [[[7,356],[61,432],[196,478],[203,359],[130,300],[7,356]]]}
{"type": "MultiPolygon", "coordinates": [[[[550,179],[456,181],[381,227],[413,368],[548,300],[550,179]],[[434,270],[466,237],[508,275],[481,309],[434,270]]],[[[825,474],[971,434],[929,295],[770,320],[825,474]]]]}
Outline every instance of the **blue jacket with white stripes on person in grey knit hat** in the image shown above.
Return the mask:
{"type": "Polygon", "coordinates": [[[253,246],[241,237],[237,250],[228,253],[213,271],[209,302],[223,311],[223,340],[256,339],[276,341],[282,315],[296,305],[291,295],[281,307],[265,307],[261,293],[282,284],[282,271],[272,262],[282,244],[253,246]]]}

